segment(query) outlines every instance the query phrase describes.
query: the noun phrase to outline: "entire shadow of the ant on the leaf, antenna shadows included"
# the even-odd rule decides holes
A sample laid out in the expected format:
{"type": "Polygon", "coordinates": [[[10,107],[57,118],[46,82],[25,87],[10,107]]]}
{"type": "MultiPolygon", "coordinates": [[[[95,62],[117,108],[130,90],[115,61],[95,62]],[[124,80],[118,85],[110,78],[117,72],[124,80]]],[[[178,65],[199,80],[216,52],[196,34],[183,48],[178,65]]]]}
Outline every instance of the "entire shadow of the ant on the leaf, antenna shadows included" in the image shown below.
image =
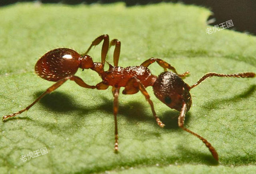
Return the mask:
{"type": "MultiPolygon", "coordinates": [[[[220,105],[221,103],[225,103],[225,102],[238,102],[239,100],[242,100],[241,98],[248,98],[250,97],[252,94],[254,94],[254,92],[256,91],[256,85],[252,85],[250,86],[250,88],[248,90],[246,90],[245,92],[242,92],[232,98],[227,98],[227,99],[217,99],[217,100],[213,100],[210,103],[207,103],[206,105],[202,106],[203,108],[214,108],[214,107],[218,107],[218,105],[220,105]]],[[[38,91],[35,93],[35,98],[40,96],[42,94],[43,91],[38,91]]],[[[76,126],[77,123],[80,122],[85,122],[86,121],[86,115],[92,112],[98,112],[98,111],[103,111],[109,114],[112,114],[112,108],[113,108],[113,99],[108,99],[106,97],[102,96],[102,104],[95,104],[94,106],[83,106],[81,104],[79,104],[78,102],[76,102],[76,100],[74,100],[74,97],[72,97],[69,94],[65,94],[62,92],[53,92],[51,94],[48,94],[46,96],[44,96],[44,98],[42,98],[39,103],[42,104],[43,106],[45,106],[46,108],[48,108],[51,111],[54,112],[59,112],[60,115],[61,113],[65,113],[65,112],[76,112],[76,116],[73,120],[73,122],[76,122],[76,124],[73,124],[74,126],[72,127],[73,129],[70,130],[68,129],[69,126],[66,125],[62,125],[62,124],[52,124],[52,123],[42,123],[40,121],[37,120],[32,120],[30,118],[13,118],[13,119],[24,119],[24,120],[28,120],[31,122],[36,122],[36,124],[39,124],[40,126],[43,126],[47,129],[56,129],[56,130],[60,130],[59,132],[64,132],[67,134],[74,134],[76,132],[77,129],[79,129],[79,126],[76,126]]],[[[146,101],[145,101],[146,102],[146,101]]],[[[159,127],[156,124],[155,119],[153,118],[152,114],[148,115],[146,114],[145,110],[146,109],[150,109],[150,106],[146,106],[146,104],[142,104],[141,102],[128,102],[125,105],[120,105],[119,106],[119,111],[118,111],[118,115],[122,115],[124,116],[124,118],[126,118],[128,120],[127,124],[134,124],[134,122],[146,122],[148,124],[152,124],[152,126],[156,126],[159,127]]],[[[168,108],[166,108],[168,109],[168,108]]],[[[178,127],[178,116],[179,116],[179,112],[178,111],[174,111],[174,110],[168,110],[166,112],[163,113],[161,120],[162,122],[166,125],[165,129],[167,130],[175,130],[175,131],[183,131],[182,129],[180,129],[178,127]]],[[[56,117],[56,115],[54,115],[54,117],[56,117]]],[[[188,124],[188,122],[190,122],[190,118],[191,118],[191,114],[190,112],[188,112],[186,114],[186,120],[185,120],[185,124],[188,124]]],[[[10,119],[11,120],[11,119],[10,119]]],[[[151,131],[151,130],[142,130],[144,132],[147,132],[146,135],[150,136],[150,138],[156,138],[158,136],[160,136],[160,132],[156,132],[156,131],[151,131]]],[[[180,142],[182,143],[182,142],[180,142]]],[[[199,151],[195,151],[195,150],[191,150],[191,149],[186,149],[184,147],[179,146],[179,148],[177,148],[178,152],[180,152],[180,156],[179,159],[177,157],[174,156],[169,156],[167,157],[168,161],[170,162],[175,162],[176,160],[182,160],[183,162],[192,162],[191,159],[200,159],[201,161],[204,161],[204,164],[207,165],[217,165],[218,163],[216,163],[216,161],[214,160],[214,158],[212,158],[212,156],[210,154],[205,154],[199,151]],[[190,156],[190,158],[188,158],[188,154],[190,156]]],[[[252,156],[248,156],[246,157],[246,159],[244,159],[244,156],[236,156],[236,158],[238,159],[242,159],[243,161],[252,161],[252,156]]],[[[233,158],[232,158],[233,159],[233,158]]],[[[232,159],[223,159],[225,161],[232,161],[232,159]]],[[[202,163],[199,161],[199,163],[202,163]]],[[[228,163],[228,162],[227,162],[228,163]]]]}

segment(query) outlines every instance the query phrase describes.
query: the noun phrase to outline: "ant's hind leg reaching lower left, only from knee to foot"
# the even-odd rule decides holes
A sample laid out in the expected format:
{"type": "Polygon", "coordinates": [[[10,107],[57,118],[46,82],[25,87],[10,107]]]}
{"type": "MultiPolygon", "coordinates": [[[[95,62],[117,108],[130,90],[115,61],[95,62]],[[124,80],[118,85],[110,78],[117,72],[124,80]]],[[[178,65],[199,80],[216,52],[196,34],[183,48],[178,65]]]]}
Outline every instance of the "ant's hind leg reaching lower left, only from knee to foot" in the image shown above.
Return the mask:
{"type": "Polygon", "coordinates": [[[52,91],[56,90],[58,87],[60,87],[64,82],[66,82],[68,79],[72,78],[72,76],[68,76],[68,77],[65,77],[61,80],[59,80],[58,82],[56,82],[54,85],[52,85],[50,88],[48,88],[46,90],[46,92],[44,92],[41,96],[39,96],[32,104],[30,104],[28,107],[18,111],[18,112],[15,112],[13,114],[10,114],[10,115],[6,115],[6,116],[3,116],[3,121],[6,120],[7,118],[10,118],[10,117],[14,117],[18,114],[21,114],[22,112],[26,111],[26,110],[29,110],[29,108],[31,108],[36,102],[38,102],[41,98],[43,98],[46,94],[49,94],[51,93],[52,91]]]}

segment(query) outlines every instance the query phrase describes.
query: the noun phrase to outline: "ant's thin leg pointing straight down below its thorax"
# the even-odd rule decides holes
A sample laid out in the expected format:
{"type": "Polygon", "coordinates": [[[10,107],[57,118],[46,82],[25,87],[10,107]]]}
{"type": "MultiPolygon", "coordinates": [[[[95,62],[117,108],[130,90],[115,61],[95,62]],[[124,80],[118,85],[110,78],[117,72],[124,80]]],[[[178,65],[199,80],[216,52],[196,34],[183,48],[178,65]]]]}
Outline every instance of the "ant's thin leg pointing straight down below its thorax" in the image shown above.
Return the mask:
{"type": "Polygon", "coordinates": [[[114,106],[113,106],[113,113],[115,119],[115,151],[118,151],[118,130],[117,130],[117,113],[118,113],[118,95],[119,95],[120,88],[112,88],[112,93],[114,96],[114,106]]]}

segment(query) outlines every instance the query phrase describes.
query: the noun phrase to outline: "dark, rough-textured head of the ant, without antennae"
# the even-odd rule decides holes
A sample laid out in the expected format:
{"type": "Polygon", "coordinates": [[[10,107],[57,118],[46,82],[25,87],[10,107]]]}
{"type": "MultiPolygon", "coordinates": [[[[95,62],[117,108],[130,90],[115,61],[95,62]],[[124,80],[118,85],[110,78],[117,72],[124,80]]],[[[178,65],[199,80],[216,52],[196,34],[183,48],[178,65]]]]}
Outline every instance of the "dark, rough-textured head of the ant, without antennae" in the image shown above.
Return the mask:
{"type": "Polygon", "coordinates": [[[153,85],[155,96],[172,109],[181,110],[183,102],[189,110],[192,100],[189,86],[177,74],[162,72],[153,85]]]}

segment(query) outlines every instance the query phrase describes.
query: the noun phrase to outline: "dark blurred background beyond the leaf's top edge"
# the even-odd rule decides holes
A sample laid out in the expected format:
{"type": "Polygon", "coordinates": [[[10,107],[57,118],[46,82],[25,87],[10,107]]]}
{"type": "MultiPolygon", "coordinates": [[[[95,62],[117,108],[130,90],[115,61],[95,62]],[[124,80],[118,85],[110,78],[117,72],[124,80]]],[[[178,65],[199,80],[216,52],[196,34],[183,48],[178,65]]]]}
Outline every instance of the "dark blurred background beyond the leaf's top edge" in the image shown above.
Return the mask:
{"type": "MultiPolygon", "coordinates": [[[[0,0],[0,6],[16,2],[33,2],[34,0],[0,0]]],[[[126,6],[147,5],[160,2],[180,2],[195,4],[209,8],[213,14],[208,18],[208,24],[214,26],[232,20],[234,27],[228,28],[239,32],[256,35],[256,1],[255,0],[37,0],[37,3],[63,4],[93,4],[125,2],[126,6]]]]}

